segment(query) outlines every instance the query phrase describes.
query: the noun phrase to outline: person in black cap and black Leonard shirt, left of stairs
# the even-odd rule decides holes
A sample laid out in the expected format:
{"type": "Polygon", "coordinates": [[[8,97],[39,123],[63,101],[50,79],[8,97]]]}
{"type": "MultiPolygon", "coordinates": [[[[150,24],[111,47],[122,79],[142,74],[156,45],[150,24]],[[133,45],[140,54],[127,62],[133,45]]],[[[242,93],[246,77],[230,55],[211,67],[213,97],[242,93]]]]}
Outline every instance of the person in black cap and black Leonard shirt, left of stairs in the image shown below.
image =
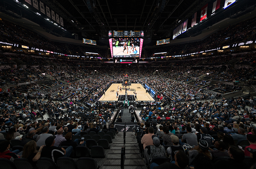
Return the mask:
{"type": "Polygon", "coordinates": [[[52,159],[55,163],[59,157],[69,157],[72,153],[73,147],[69,146],[66,150],[64,148],[54,146],[55,136],[50,136],[45,140],[45,147],[42,149],[41,157],[52,159]]]}

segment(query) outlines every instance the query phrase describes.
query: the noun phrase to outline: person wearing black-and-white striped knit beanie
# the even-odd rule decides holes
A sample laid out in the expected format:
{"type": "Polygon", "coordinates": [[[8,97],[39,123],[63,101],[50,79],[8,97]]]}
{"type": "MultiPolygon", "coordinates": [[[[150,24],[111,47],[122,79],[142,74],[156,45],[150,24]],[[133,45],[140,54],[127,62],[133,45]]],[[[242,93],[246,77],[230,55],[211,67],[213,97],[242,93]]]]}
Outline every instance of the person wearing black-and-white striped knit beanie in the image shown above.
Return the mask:
{"type": "Polygon", "coordinates": [[[206,157],[212,160],[212,154],[208,151],[209,150],[209,145],[205,140],[200,140],[199,145],[197,145],[195,148],[190,149],[188,151],[189,155],[189,164],[195,159],[195,157],[199,154],[202,153],[206,157]]]}

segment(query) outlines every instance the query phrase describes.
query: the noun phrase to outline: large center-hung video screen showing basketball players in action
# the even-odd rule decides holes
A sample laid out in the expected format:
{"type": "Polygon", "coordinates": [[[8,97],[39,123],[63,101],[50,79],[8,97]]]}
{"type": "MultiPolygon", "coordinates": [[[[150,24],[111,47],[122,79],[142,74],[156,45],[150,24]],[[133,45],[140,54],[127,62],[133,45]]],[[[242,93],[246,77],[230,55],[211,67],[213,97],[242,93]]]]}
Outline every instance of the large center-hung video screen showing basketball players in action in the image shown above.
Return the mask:
{"type": "Polygon", "coordinates": [[[139,58],[143,43],[141,40],[138,37],[112,38],[113,58],[139,58]]]}

